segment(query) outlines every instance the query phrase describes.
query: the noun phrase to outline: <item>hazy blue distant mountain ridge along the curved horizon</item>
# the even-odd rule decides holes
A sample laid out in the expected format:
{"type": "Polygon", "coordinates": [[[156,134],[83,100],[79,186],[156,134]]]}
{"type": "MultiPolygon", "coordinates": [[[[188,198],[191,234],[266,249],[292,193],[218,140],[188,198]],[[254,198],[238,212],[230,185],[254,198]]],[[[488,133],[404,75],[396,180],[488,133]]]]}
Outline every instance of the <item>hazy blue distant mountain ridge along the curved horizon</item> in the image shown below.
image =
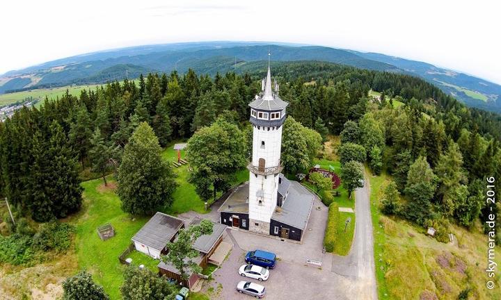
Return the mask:
{"type": "Polygon", "coordinates": [[[0,94],[31,88],[105,83],[125,77],[135,78],[141,73],[170,72],[174,69],[186,72],[192,68],[214,75],[247,62],[265,60],[268,51],[271,51],[272,60],[321,60],[361,69],[420,76],[468,106],[501,113],[501,85],[474,76],[380,53],[267,42],[145,45],[72,56],[1,75],[0,94]]]}

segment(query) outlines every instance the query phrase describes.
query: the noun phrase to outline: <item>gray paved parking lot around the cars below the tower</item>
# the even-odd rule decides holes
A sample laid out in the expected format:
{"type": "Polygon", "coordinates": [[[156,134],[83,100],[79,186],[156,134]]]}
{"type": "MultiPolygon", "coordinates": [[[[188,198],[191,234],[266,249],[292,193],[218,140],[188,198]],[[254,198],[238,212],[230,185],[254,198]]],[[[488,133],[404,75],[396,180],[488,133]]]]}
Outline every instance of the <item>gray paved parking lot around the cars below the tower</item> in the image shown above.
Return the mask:
{"type": "Polygon", "coordinates": [[[210,293],[211,299],[253,299],[235,289],[239,281],[252,281],[266,287],[265,299],[310,299],[317,295],[341,300],[356,299],[353,297],[356,295],[353,279],[331,272],[332,256],[322,253],[326,219],[327,208],[316,201],[303,244],[228,229],[225,241],[233,244],[232,251],[204,290],[214,290],[210,293]],[[277,255],[276,268],[270,271],[268,281],[260,282],[238,274],[239,267],[245,264],[247,251],[255,249],[277,255]],[[322,267],[306,263],[307,259],[321,262],[322,267]]]}

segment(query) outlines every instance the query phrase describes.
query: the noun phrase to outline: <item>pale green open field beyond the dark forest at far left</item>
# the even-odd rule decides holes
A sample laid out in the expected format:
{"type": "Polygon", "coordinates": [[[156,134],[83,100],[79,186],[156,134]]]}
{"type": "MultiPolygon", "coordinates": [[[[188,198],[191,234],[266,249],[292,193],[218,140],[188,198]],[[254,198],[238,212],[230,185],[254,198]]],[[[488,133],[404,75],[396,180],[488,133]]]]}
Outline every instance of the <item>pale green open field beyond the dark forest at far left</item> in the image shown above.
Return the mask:
{"type": "Polygon", "coordinates": [[[97,85],[79,85],[79,86],[65,86],[61,88],[50,88],[50,89],[38,89],[38,90],[27,90],[24,92],[14,92],[9,94],[0,94],[0,106],[4,106],[10,103],[16,103],[17,101],[24,101],[28,98],[40,99],[37,103],[37,107],[42,105],[43,100],[47,96],[49,99],[55,99],[56,97],[61,97],[65,94],[66,90],[70,94],[77,96],[82,90],[94,90],[97,85]]]}

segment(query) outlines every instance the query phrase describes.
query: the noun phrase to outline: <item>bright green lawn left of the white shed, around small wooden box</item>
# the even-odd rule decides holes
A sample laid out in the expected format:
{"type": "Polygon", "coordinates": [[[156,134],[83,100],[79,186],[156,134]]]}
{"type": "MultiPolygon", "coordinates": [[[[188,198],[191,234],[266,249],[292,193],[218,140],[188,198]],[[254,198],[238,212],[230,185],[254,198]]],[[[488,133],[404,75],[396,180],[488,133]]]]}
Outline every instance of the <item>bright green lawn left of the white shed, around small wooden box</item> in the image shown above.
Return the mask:
{"type": "Polygon", "coordinates": [[[109,188],[104,188],[102,179],[82,183],[84,208],[70,222],[77,227],[75,249],[79,268],[93,274],[110,299],[120,299],[125,266],[120,264],[118,256],[129,246],[131,238],[148,221],[148,217],[131,217],[124,213],[113,189],[116,181],[111,177],[108,181],[109,188]],[[96,228],[106,223],[115,228],[116,235],[102,241],[96,228]]]}

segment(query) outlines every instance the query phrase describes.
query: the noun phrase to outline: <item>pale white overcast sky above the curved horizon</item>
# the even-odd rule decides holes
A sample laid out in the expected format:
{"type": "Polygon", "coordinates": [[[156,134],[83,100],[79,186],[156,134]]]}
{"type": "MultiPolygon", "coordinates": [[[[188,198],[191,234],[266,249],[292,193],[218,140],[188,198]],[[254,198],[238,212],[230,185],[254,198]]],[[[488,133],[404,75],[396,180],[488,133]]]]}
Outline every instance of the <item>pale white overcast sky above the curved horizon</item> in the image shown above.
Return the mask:
{"type": "Polygon", "coordinates": [[[378,52],[501,84],[501,1],[2,1],[0,74],[120,47],[214,40],[378,52]]]}

